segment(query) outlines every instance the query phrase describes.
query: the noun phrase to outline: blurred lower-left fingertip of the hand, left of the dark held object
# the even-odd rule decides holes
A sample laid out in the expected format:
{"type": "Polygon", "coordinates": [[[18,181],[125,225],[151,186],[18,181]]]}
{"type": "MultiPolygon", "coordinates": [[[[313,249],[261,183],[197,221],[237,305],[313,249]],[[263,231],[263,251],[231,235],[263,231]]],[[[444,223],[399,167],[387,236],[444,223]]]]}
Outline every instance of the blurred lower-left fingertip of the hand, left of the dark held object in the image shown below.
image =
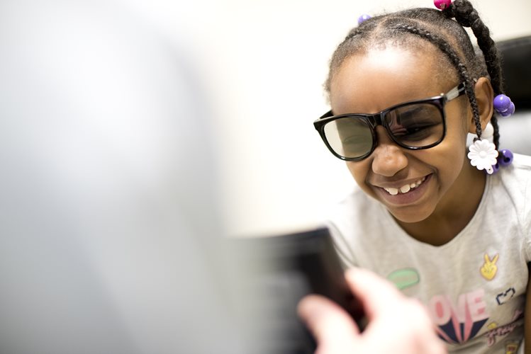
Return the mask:
{"type": "Polygon", "coordinates": [[[359,335],[352,317],[326,297],[308,295],[299,302],[297,311],[320,348],[339,347],[340,343],[352,341],[359,335]]]}

